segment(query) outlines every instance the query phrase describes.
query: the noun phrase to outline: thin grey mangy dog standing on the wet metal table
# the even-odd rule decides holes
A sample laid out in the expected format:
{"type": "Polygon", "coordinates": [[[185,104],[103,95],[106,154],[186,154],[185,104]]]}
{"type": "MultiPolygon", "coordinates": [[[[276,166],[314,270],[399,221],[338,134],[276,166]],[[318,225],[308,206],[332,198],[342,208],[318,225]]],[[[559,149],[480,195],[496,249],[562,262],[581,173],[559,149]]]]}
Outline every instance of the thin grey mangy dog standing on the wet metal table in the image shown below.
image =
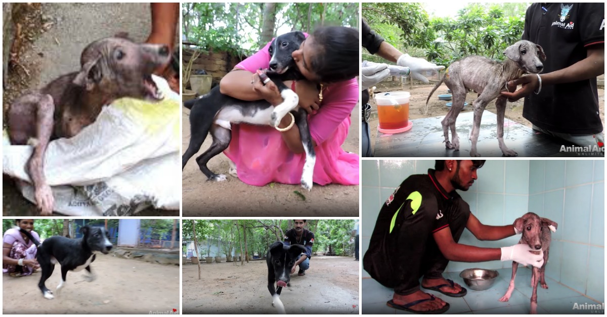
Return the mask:
{"type": "Polygon", "coordinates": [[[504,115],[506,114],[507,98],[500,95],[507,91],[506,84],[524,75],[524,73],[540,73],[543,69],[542,61],[546,60],[546,54],[541,46],[530,41],[518,41],[504,51],[506,60],[503,63],[490,60],[483,56],[469,56],[463,60],[456,61],[447,68],[445,75],[436,83],[436,86],[428,95],[428,101],[436,89],[444,83],[451,89],[453,94],[453,105],[441,121],[445,145],[448,149],[459,149],[459,137],[455,131],[455,123],[459,112],[464,109],[468,89],[478,93],[474,101],[474,120],[469,139],[472,142],[470,156],[478,157],[476,141],[481,128],[481,117],[487,104],[497,98],[497,140],[500,149],[505,156],[517,156],[517,152],[507,148],[504,143],[504,115]],[[451,141],[449,141],[449,130],[451,130],[451,141]]]}

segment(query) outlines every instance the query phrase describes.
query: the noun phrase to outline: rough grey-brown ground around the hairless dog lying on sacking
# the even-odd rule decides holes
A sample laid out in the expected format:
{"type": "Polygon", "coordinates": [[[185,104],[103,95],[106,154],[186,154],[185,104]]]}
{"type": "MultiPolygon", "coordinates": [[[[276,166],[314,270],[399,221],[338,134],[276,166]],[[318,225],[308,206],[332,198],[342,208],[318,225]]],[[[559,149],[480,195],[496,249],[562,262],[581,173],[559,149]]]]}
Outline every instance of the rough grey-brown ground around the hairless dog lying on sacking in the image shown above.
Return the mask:
{"type": "MultiPolygon", "coordinates": [[[[8,104],[27,90],[38,89],[59,75],[78,70],[80,53],[92,41],[127,32],[134,41],[143,42],[151,29],[147,3],[37,6],[30,5],[30,9],[23,10],[14,21],[21,24],[23,36],[17,54],[19,66],[9,67],[3,89],[3,114],[8,104]]],[[[8,177],[2,177],[2,201],[4,216],[38,216],[36,206],[21,196],[8,177]]],[[[137,216],[174,214],[174,211],[148,209],[137,216]]]]}

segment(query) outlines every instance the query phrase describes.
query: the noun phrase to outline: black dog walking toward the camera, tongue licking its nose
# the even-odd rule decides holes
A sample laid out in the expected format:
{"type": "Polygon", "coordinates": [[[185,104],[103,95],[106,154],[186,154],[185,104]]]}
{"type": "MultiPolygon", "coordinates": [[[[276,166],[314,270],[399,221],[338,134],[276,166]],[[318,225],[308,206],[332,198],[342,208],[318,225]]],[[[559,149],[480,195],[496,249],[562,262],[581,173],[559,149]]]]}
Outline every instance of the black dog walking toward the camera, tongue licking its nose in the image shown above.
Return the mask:
{"type": "Polygon", "coordinates": [[[280,301],[280,291],[283,287],[290,286],[291,269],[297,261],[297,256],[305,252],[305,248],[299,244],[284,245],[277,241],[270,245],[266,254],[268,264],[268,290],[272,295],[272,305],[276,306],[279,313],[285,313],[285,306],[280,301]],[[274,288],[276,283],[277,288],[274,288]]]}

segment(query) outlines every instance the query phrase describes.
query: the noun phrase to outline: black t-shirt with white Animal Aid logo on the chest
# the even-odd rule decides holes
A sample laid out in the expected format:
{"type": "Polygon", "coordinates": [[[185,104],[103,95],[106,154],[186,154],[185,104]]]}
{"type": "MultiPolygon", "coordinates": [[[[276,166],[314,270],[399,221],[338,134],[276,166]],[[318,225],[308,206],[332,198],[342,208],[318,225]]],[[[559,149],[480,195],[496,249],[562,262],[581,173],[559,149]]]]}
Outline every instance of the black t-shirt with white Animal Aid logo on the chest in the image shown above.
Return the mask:
{"type": "MultiPolygon", "coordinates": [[[[544,49],[542,73],[549,73],[583,60],[589,47],[604,47],[604,23],[603,3],[536,3],[527,9],[523,39],[544,49]]],[[[602,132],[597,79],[542,86],[524,98],[523,117],[553,132],[602,132]]]]}

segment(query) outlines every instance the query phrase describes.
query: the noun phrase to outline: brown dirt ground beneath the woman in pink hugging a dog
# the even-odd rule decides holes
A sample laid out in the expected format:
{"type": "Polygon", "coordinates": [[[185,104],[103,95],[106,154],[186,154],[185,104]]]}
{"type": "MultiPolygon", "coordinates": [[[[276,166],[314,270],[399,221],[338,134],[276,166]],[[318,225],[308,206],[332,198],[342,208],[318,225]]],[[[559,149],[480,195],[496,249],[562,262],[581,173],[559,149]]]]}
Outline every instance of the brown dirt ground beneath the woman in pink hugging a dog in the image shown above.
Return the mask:
{"type": "MultiPolygon", "coordinates": [[[[360,107],[354,107],[350,132],[342,148],[345,151],[359,153],[360,107]]],[[[190,138],[189,109],[182,107],[181,135],[183,151],[188,148],[190,138]]],[[[358,186],[314,184],[308,193],[299,185],[278,183],[258,187],[246,185],[228,174],[228,158],[217,155],[208,167],[217,174],[226,174],[225,182],[207,182],[195,162],[195,157],[211,146],[212,139],[207,137],[198,154],[188,161],[181,177],[182,210],[184,217],[213,216],[354,216],[358,217],[358,186]],[[298,191],[305,200],[294,193],[298,191]]]]}

